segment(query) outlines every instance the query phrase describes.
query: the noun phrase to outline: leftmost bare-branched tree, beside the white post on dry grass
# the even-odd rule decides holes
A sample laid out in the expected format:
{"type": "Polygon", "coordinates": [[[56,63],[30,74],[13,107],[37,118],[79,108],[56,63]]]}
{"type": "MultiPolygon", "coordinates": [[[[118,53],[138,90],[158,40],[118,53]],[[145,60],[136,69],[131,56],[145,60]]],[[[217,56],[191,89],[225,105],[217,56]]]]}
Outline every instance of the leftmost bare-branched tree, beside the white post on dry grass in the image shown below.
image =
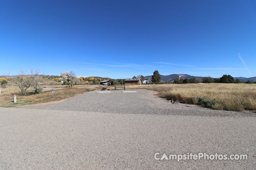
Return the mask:
{"type": "Polygon", "coordinates": [[[16,78],[14,78],[14,83],[18,85],[23,96],[25,96],[26,90],[31,86],[30,77],[26,76],[26,71],[22,69],[19,71],[16,78]]]}

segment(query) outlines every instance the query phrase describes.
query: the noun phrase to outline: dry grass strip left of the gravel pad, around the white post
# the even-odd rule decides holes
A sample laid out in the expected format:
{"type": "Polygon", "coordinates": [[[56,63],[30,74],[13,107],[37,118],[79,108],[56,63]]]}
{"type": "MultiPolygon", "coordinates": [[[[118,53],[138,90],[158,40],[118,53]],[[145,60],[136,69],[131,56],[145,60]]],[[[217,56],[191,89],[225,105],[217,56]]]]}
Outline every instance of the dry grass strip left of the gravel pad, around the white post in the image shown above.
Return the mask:
{"type": "Polygon", "coordinates": [[[37,95],[28,95],[28,96],[17,95],[17,103],[13,102],[14,100],[13,94],[14,92],[16,93],[19,92],[19,89],[17,87],[6,88],[6,89],[2,89],[2,93],[0,96],[0,107],[15,107],[15,106],[22,106],[27,104],[60,101],[65,98],[75,96],[77,94],[93,91],[97,88],[98,87],[96,88],[68,87],[65,89],[58,89],[58,90],[54,89],[54,98],[52,98],[52,90],[43,91],[42,94],[37,94],[37,95]]]}

